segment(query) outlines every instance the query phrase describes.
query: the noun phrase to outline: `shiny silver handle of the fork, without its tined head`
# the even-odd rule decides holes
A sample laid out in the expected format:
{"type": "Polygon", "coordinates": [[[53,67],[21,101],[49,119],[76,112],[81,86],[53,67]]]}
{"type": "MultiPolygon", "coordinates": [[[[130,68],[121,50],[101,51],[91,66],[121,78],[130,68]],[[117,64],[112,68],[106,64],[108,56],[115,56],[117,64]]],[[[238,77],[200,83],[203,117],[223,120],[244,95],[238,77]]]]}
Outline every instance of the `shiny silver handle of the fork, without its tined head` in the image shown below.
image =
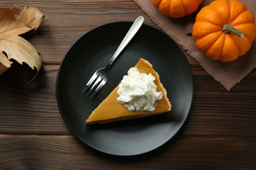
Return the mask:
{"type": "Polygon", "coordinates": [[[119,47],[117,48],[115,54],[112,56],[112,58],[110,59],[110,61],[108,62],[107,68],[110,69],[112,63],[114,63],[115,59],[117,58],[117,56],[120,54],[120,52],[123,50],[123,48],[125,48],[125,46],[127,46],[127,44],[131,41],[131,39],[133,39],[133,37],[135,36],[135,34],[137,33],[137,31],[140,29],[141,25],[144,22],[144,18],[143,16],[139,16],[135,22],[133,23],[133,25],[131,25],[131,28],[129,29],[129,31],[127,32],[127,34],[125,35],[125,37],[123,38],[123,41],[121,42],[121,44],[119,45],[119,47]]]}

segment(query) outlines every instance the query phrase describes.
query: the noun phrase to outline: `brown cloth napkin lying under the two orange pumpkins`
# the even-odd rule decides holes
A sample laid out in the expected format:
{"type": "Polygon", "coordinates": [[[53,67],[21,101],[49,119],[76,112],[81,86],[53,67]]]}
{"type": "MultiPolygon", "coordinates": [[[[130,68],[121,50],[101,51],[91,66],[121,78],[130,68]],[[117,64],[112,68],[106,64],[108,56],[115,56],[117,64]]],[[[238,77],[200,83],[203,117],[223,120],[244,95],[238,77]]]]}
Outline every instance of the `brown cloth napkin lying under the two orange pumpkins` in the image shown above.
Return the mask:
{"type": "MultiPolygon", "coordinates": [[[[192,38],[192,25],[196,17],[196,12],[184,18],[172,19],[163,16],[152,4],[152,0],[133,0],[137,5],[158,25],[167,35],[177,41],[177,43],[186,51],[186,56],[192,56],[202,65],[215,80],[220,82],[226,90],[231,90],[248,73],[256,67],[256,42],[253,42],[251,49],[242,57],[228,63],[220,61],[211,61],[200,52],[194,39],[192,38]]],[[[205,5],[209,5],[214,0],[203,0],[198,11],[205,5]]],[[[256,1],[240,0],[247,9],[251,10],[256,16],[256,1]]]]}

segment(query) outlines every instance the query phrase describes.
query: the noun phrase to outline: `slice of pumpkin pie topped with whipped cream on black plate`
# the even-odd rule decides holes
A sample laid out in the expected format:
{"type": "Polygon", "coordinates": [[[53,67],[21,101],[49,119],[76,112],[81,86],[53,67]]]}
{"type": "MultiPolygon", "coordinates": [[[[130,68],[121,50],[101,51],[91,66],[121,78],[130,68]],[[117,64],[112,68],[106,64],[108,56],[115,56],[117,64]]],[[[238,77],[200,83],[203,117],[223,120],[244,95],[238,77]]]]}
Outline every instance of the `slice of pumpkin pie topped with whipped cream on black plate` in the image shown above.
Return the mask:
{"type": "Polygon", "coordinates": [[[140,58],[120,84],[96,107],[87,124],[107,123],[160,114],[171,110],[158,73],[140,58]]]}

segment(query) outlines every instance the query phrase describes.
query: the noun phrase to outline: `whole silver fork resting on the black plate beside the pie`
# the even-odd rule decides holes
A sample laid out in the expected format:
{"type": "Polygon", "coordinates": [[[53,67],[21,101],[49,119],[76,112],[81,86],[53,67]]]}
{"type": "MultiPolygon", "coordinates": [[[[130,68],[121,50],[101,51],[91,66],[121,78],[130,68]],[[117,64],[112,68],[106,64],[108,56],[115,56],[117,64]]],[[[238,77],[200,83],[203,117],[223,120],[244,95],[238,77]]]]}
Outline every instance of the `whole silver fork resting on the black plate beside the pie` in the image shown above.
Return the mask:
{"type": "Polygon", "coordinates": [[[123,48],[125,48],[125,46],[131,41],[131,39],[133,39],[134,35],[140,29],[143,22],[144,22],[143,16],[139,16],[135,20],[135,22],[133,23],[133,25],[131,25],[131,28],[129,29],[129,31],[127,32],[125,37],[123,38],[123,41],[121,42],[121,44],[117,48],[116,52],[114,53],[114,55],[112,56],[112,58],[108,62],[108,65],[106,65],[106,67],[98,69],[93,74],[93,76],[90,78],[90,80],[85,85],[85,88],[83,88],[82,93],[87,92],[85,95],[91,94],[89,98],[92,98],[92,97],[95,96],[96,93],[98,93],[98,91],[100,91],[100,89],[102,89],[102,87],[108,81],[110,67],[114,63],[117,56],[121,53],[123,48]]]}

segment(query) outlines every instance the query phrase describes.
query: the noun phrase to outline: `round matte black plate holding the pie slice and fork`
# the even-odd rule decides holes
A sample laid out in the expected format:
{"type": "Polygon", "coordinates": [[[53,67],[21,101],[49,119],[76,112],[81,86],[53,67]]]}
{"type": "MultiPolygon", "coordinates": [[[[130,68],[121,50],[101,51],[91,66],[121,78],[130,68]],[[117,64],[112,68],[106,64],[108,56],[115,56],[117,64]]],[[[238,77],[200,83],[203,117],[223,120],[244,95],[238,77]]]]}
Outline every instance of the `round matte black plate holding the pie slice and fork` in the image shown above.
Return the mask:
{"type": "Polygon", "coordinates": [[[175,41],[149,25],[142,25],[120,54],[110,69],[107,84],[96,97],[88,99],[81,93],[96,69],[106,66],[132,24],[114,22],[85,33],[66,53],[56,80],[58,107],[74,135],[96,150],[117,156],[143,154],[169,141],[184,124],[193,97],[193,78],[186,56],[175,41]],[[85,124],[89,114],[140,58],[150,61],[160,75],[172,110],[110,124],[85,124]]]}

